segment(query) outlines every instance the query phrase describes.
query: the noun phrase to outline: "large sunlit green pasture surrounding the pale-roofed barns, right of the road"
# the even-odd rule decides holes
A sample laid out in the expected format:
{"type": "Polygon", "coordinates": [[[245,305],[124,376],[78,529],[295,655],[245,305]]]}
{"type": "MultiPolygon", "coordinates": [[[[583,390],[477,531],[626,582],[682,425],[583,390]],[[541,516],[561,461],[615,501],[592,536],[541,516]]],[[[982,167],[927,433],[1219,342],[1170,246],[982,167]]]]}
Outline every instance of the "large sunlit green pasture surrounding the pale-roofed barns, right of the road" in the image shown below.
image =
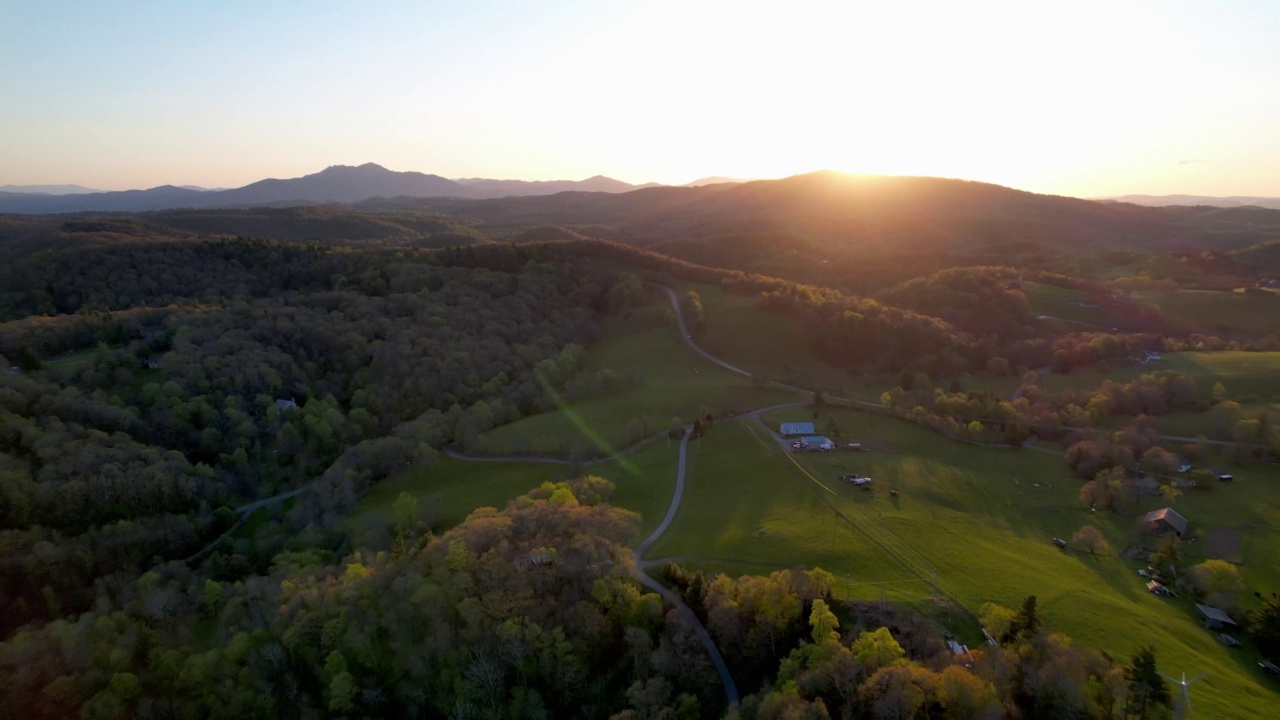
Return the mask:
{"type": "MultiPolygon", "coordinates": [[[[966,446],[899,420],[833,413],[842,438],[890,450],[794,456],[803,473],[758,424],[716,427],[691,454],[685,505],[649,556],[735,574],[819,565],[854,596],[900,600],[928,594],[936,571],[938,587],[970,610],[986,601],[1016,606],[1037,594],[1048,625],[1082,642],[1120,659],[1151,642],[1166,673],[1208,671],[1196,696],[1203,716],[1267,715],[1275,694],[1256,657],[1213,639],[1189,600],[1144,592],[1139,565],[1116,556],[1139,541],[1133,519],[1084,511],[1080,482],[1060,455],[966,446]],[[873,477],[876,491],[838,480],[852,471],[873,477]],[[1085,523],[1105,533],[1110,555],[1094,559],[1051,542],[1085,523]]],[[[768,421],[809,419],[804,409],[768,421]]],[[[1193,562],[1203,559],[1212,529],[1239,529],[1242,575],[1251,589],[1270,591],[1280,587],[1271,561],[1280,550],[1280,510],[1265,475],[1238,473],[1235,484],[1188,493],[1178,509],[1198,538],[1188,544],[1193,562]]]]}

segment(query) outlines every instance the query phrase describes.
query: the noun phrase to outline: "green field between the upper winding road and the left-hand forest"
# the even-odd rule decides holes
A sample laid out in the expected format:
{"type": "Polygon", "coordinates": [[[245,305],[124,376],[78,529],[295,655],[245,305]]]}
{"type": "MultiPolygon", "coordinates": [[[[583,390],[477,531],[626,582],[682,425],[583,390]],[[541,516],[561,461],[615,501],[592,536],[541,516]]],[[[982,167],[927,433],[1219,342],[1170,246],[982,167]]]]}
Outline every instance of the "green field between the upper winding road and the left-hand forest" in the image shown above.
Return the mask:
{"type": "Polygon", "coordinates": [[[589,456],[609,455],[636,439],[632,421],[646,418],[649,433],[689,423],[703,407],[717,415],[750,410],[804,397],[787,391],[753,387],[748,378],[707,361],[690,350],[666,322],[669,305],[653,302],[630,319],[612,319],[599,342],[588,348],[586,370],[637,370],[640,387],[588,398],[494,428],[480,438],[485,454],[579,447],[589,456]]]}

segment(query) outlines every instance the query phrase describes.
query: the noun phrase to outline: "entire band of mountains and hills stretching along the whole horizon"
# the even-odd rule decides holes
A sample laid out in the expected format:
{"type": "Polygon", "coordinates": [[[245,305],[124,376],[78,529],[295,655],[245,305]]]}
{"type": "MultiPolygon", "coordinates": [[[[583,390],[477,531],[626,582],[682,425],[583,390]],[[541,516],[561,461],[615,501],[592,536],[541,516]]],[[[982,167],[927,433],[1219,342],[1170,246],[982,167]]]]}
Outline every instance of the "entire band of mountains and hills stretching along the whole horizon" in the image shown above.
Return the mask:
{"type": "MultiPolygon", "coordinates": [[[[479,192],[483,188],[476,186],[489,182],[364,165],[220,192],[170,186],[73,196],[68,200],[102,202],[106,197],[113,209],[163,204],[168,209],[134,217],[10,214],[0,222],[0,241],[36,240],[59,231],[150,236],[164,234],[166,228],[196,236],[425,247],[594,237],[745,270],[772,273],[786,266],[804,268],[806,274],[874,274],[881,270],[870,259],[895,259],[902,266],[937,264],[945,256],[1006,264],[1012,256],[1228,252],[1280,238],[1280,210],[1148,208],[929,177],[820,170],[782,179],[627,192],[461,195],[479,192]],[[351,197],[367,199],[346,201],[351,197]]],[[[598,188],[622,184],[608,178],[584,182],[598,188]]],[[[488,192],[495,192],[493,187],[488,192]]],[[[512,188],[549,190],[545,184],[512,188]]],[[[56,200],[28,196],[32,199],[56,200]]]]}

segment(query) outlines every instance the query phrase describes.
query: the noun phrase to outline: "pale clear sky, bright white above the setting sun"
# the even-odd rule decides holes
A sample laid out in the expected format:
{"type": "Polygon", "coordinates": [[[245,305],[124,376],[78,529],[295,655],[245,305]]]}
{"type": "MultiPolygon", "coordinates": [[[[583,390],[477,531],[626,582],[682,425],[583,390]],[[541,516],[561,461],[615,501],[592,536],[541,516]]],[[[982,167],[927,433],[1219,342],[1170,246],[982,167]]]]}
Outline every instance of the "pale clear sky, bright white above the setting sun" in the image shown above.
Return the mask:
{"type": "Polygon", "coordinates": [[[0,184],[378,163],[1280,196],[1280,3],[0,0],[0,184]]]}

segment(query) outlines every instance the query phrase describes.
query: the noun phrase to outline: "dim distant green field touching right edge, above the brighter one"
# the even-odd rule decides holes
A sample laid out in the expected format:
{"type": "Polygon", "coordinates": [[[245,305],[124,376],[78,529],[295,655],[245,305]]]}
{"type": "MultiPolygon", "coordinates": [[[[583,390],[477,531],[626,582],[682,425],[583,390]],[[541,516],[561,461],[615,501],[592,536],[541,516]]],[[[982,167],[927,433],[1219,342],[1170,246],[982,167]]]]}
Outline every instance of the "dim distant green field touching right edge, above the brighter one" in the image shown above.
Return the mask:
{"type": "Polygon", "coordinates": [[[1160,307],[1174,324],[1203,332],[1280,334],[1280,297],[1213,290],[1147,291],[1134,297],[1160,307]]]}

